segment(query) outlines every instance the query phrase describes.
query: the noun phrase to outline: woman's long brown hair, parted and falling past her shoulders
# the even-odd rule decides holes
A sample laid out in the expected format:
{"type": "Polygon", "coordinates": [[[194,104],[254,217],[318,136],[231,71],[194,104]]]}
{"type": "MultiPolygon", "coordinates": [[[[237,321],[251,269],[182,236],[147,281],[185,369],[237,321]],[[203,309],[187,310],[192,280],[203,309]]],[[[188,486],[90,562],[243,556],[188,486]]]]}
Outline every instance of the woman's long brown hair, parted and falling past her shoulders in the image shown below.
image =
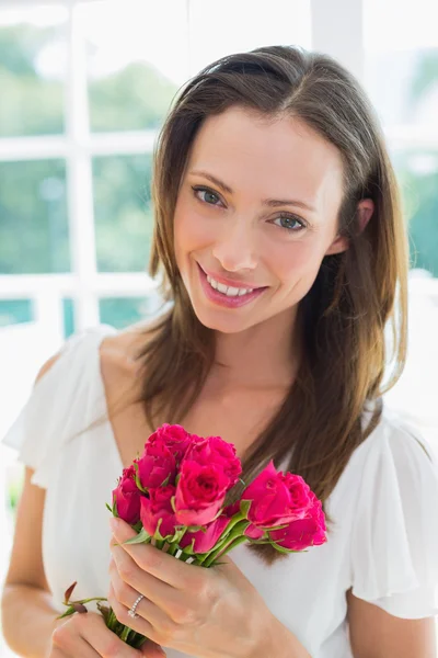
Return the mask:
{"type": "MultiPolygon", "coordinates": [[[[326,501],[351,453],[378,424],[381,396],[402,374],[407,334],[407,236],[394,172],[379,122],[357,80],[327,55],[268,46],[228,55],[205,67],[177,93],[154,152],[154,236],[150,274],[162,276],[171,307],[145,330],[138,354],[150,427],[180,422],[199,395],[215,360],[215,333],[197,319],[175,262],[173,216],[189,149],[206,117],[231,106],[261,116],[301,118],[341,152],[343,253],[326,256],[301,299],[303,359],[277,413],[243,457],[244,481],[273,458],[300,474],[326,501]],[[357,204],[374,213],[358,227],[357,204]],[[399,295],[397,305],[394,304],[399,295]],[[394,363],[385,388],[384,328],[392,321],[394,363]],[[364,412],[370,421],[362,427],[364,412]]],[[[281,557],[252,546],[267,563],[281,557]]]]}

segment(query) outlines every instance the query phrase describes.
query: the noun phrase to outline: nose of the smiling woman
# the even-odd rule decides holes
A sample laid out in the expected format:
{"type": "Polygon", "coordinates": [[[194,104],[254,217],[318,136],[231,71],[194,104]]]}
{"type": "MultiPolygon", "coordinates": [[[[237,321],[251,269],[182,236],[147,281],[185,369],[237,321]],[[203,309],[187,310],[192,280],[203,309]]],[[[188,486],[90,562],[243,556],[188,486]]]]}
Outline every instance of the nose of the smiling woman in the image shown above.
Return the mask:
{"type": "Polygon", "coordinates": [[[254,270],[256,254],[253,231],[243,223],[235,223],[232,228],[228,226],[216,241],[212,254],[229,272],[254,270]]]}

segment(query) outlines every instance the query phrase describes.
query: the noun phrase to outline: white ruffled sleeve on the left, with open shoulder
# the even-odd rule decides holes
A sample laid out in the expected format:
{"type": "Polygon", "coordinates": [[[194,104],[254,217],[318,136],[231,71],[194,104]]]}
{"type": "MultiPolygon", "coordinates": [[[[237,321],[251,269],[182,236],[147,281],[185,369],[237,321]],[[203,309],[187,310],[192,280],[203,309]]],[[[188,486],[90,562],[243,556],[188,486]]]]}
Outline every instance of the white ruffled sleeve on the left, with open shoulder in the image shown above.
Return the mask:
{"type": "MultiPolygon", "coordinates": [[[[19,460],[33,470],[32,484],[47,489],[64,442],[80,429],[83,411],[78,400],[88,386],[84,364],[87,341],[93,329],[77,332],[65,341],[59,358],[35,383],[2,443],[18,450],[19,460]]],[[[95,330],[94,330],[95,334],[95,330]]]]}

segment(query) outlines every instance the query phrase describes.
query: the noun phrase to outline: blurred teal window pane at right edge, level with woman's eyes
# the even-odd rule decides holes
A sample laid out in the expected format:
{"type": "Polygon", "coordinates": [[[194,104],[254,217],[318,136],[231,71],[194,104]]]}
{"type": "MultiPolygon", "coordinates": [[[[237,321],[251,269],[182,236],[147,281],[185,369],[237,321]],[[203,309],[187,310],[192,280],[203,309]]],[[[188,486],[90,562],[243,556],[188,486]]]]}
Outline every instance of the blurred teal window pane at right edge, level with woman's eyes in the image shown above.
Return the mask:
{"type": "Polygon", "coordinates": [[[408,219],[412,268],[438,276],[438,151],[402,151],[392,160],[408,219]]]}

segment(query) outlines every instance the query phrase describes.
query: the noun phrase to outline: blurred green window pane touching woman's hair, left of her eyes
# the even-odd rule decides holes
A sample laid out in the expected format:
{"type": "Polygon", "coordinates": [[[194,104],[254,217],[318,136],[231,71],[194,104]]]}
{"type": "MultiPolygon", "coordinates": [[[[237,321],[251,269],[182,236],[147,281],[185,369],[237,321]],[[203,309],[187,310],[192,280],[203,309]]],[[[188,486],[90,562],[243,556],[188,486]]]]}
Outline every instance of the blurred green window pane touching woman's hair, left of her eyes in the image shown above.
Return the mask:
{"type": "Polygon", "coordinates": [[[152,238],[152,156],[93,160],[97,270],[145,272],[152,238]]]}

